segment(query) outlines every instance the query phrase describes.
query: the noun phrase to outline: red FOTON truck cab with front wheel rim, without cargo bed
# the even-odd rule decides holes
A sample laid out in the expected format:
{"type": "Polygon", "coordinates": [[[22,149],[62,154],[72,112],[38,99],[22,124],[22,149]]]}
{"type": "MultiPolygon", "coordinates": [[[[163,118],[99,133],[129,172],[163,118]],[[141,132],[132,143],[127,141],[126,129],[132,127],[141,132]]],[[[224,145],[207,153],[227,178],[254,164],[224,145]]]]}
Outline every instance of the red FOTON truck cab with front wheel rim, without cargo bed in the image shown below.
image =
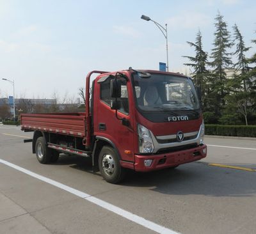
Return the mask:
{"type": "MultiPolygon", "coordinates": [[[[174,168],[206,156],[202,111],[189,77],[153,70],[101,74],[91,104],[93,137],[110,144],[122,168],[174,168]]],[[[109,155],[99,166],[111,176],[116,165],[109,155]]]]}

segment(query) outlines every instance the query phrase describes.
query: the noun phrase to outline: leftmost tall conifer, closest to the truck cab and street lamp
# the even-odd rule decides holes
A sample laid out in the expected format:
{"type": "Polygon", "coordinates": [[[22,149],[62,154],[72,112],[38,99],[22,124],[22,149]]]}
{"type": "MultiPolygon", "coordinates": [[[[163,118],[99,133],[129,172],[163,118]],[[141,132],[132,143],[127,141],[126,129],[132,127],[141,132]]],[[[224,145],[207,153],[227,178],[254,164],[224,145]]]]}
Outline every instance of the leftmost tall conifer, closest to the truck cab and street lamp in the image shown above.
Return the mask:
{"type": "Polygon", "coordinates": [[[201,102],[204,107],[204,97],[205,97],[205,84],[207,81],[207,76],[209,75],[208,70],[206,69],[207,61],[207,52],[203,50],[202,45],[202,34],[200,30],[196,34],[196,41],[187,42],[191,47],[195,48],[195,57],[191,56],[183,56],[184,58],[188,58],[191,63],[184,63],[186,66],[191,66],[193,70],[193,80],[197,87],[200,87],[200,91],[202,93],[201,102]]]}

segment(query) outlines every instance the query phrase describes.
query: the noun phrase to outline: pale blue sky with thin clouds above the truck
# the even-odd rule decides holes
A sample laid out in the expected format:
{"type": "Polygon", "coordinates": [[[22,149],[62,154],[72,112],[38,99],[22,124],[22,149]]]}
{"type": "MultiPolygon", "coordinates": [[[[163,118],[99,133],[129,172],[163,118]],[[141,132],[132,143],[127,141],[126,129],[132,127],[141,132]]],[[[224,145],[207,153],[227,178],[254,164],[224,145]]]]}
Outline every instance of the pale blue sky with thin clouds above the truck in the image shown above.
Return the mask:
{"type": "Polygon", "coordinates": [[[92,70],[158,70],[166,62],[166,40],[141,15],[168,24],[170,71],[188,74],[182,56],[195,52],[186,42],[195,42],[200,29],[211,54],[218,11],[229,31],[237,24],[252,56],[256,1],[0,0],[0,97],[13,95],[12,84],[2,78],[15,81],[15,98],[61,101],[79,97],[92,70]]]}

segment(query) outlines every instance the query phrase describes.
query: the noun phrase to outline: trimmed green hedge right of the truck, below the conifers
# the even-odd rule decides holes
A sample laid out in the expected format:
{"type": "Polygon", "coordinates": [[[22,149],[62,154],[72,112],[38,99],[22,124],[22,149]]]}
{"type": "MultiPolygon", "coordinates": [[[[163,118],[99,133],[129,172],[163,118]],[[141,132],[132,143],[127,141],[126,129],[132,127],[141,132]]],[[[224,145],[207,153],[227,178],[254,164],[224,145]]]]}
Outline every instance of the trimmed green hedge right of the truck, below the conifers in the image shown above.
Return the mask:
{"type": "Polygon", "coordinates": [[[256,137],[256,126],[205,124],[205,135],[256,137]]]}

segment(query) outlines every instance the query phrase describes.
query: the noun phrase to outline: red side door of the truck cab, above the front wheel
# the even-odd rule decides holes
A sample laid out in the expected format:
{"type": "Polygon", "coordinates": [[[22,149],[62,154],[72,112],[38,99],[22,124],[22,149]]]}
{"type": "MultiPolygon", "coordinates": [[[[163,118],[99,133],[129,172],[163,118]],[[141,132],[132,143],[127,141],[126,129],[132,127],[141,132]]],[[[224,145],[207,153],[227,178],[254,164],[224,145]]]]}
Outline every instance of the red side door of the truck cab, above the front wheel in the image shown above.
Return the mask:
{"type": "Polygon", "coordinates": [[[121,160],[134,162],[134,126],[132,120],[132,88],[131,82],[124,77],[118,77],[121,82],[121,97],[118,98],[120,109],[111,109],[110,82],[113,75],[101,75],[95,82],[95,97],[93,98],[93,129],[94,135],[102,137],[113,144],[121,160]],[[116,118],[117,115],[117,118],[116,118]],[[128,126],[122,123],[125,118],[128,126]]]}

